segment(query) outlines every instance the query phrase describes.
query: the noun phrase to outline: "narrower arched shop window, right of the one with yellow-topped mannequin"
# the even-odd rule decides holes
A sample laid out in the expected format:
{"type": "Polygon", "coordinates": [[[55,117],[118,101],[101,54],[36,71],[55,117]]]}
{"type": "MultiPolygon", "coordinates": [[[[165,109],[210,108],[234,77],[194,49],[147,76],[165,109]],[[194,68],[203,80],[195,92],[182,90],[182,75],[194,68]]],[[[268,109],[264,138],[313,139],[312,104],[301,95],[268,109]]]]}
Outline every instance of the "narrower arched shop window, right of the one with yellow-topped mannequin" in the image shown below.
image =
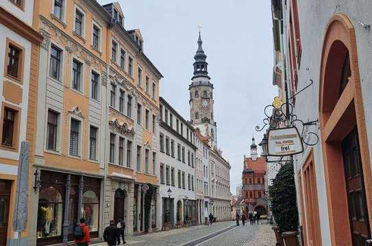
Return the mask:
{"type": "Polygon", "coordinates": [[[90,232],[98,231],[99,199],[94,191],[86,191],[83,194],[82,217],[85,218],[90,232]]]}

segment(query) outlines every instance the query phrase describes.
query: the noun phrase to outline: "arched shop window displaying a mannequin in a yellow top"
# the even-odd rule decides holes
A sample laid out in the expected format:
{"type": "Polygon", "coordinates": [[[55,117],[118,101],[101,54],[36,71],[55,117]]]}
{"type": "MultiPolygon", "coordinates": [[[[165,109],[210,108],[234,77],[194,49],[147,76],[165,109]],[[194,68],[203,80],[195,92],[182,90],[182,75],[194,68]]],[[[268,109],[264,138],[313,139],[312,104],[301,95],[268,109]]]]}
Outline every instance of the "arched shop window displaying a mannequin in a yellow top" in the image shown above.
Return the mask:
{"type": "Polygon", "coordinates": [[[40,191],[38,204],[38,238],[62,235],[63,200],[54,187],[40,191]]]}

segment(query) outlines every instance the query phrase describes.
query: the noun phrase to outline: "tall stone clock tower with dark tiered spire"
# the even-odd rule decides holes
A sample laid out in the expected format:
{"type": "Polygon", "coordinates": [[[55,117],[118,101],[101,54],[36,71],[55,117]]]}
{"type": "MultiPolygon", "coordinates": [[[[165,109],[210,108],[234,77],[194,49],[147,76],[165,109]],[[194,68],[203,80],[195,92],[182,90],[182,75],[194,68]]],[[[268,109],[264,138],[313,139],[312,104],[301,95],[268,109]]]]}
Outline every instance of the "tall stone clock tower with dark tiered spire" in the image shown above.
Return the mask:
{"type": "Polygon", "coordinates": [[[190,91],[190,122],[200,133],[208,136],[210,146],[217,146],[217,124],[213,113],[213,84],[208,76],[207,55],[201,44],[201,34],[197,40],[198,48],[194,56],[194,76],[188,86],[190,91]]]}

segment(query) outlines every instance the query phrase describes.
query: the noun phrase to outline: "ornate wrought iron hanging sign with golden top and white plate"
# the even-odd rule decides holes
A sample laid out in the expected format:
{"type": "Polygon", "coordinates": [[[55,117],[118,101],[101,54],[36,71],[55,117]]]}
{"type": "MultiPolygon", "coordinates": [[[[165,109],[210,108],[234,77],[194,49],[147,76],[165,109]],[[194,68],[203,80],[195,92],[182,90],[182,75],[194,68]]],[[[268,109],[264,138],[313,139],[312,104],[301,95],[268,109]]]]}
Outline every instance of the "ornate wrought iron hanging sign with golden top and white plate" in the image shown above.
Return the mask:
{"type": "Polygon", "coordinates": [[[265,118],[262,127],[256,126],[256,131],[268,127],[266,156],[290,156],[303,152],[303,143],[315,146],[319,141],[317,133],[309,131],[309,126],[317,125],[318,120],[303,122],[295,113],[293,105],[288,100],[282,102],[275,97],[271,105],[264,108],[265,118]]]}

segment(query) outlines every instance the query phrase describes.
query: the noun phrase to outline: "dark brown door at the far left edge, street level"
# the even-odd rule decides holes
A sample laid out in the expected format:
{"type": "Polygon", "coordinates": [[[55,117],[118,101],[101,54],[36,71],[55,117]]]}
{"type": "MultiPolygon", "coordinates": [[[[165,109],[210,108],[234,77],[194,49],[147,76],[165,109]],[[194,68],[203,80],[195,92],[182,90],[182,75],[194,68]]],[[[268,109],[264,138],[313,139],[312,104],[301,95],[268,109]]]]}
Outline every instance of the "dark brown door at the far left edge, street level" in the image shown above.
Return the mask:
{"type": "Polygon", "coordinates": [[[6,238],[8,234],[8,215],[11,185],[11,181],[0,180],[0,246],[6,245],[6,238]]]}

